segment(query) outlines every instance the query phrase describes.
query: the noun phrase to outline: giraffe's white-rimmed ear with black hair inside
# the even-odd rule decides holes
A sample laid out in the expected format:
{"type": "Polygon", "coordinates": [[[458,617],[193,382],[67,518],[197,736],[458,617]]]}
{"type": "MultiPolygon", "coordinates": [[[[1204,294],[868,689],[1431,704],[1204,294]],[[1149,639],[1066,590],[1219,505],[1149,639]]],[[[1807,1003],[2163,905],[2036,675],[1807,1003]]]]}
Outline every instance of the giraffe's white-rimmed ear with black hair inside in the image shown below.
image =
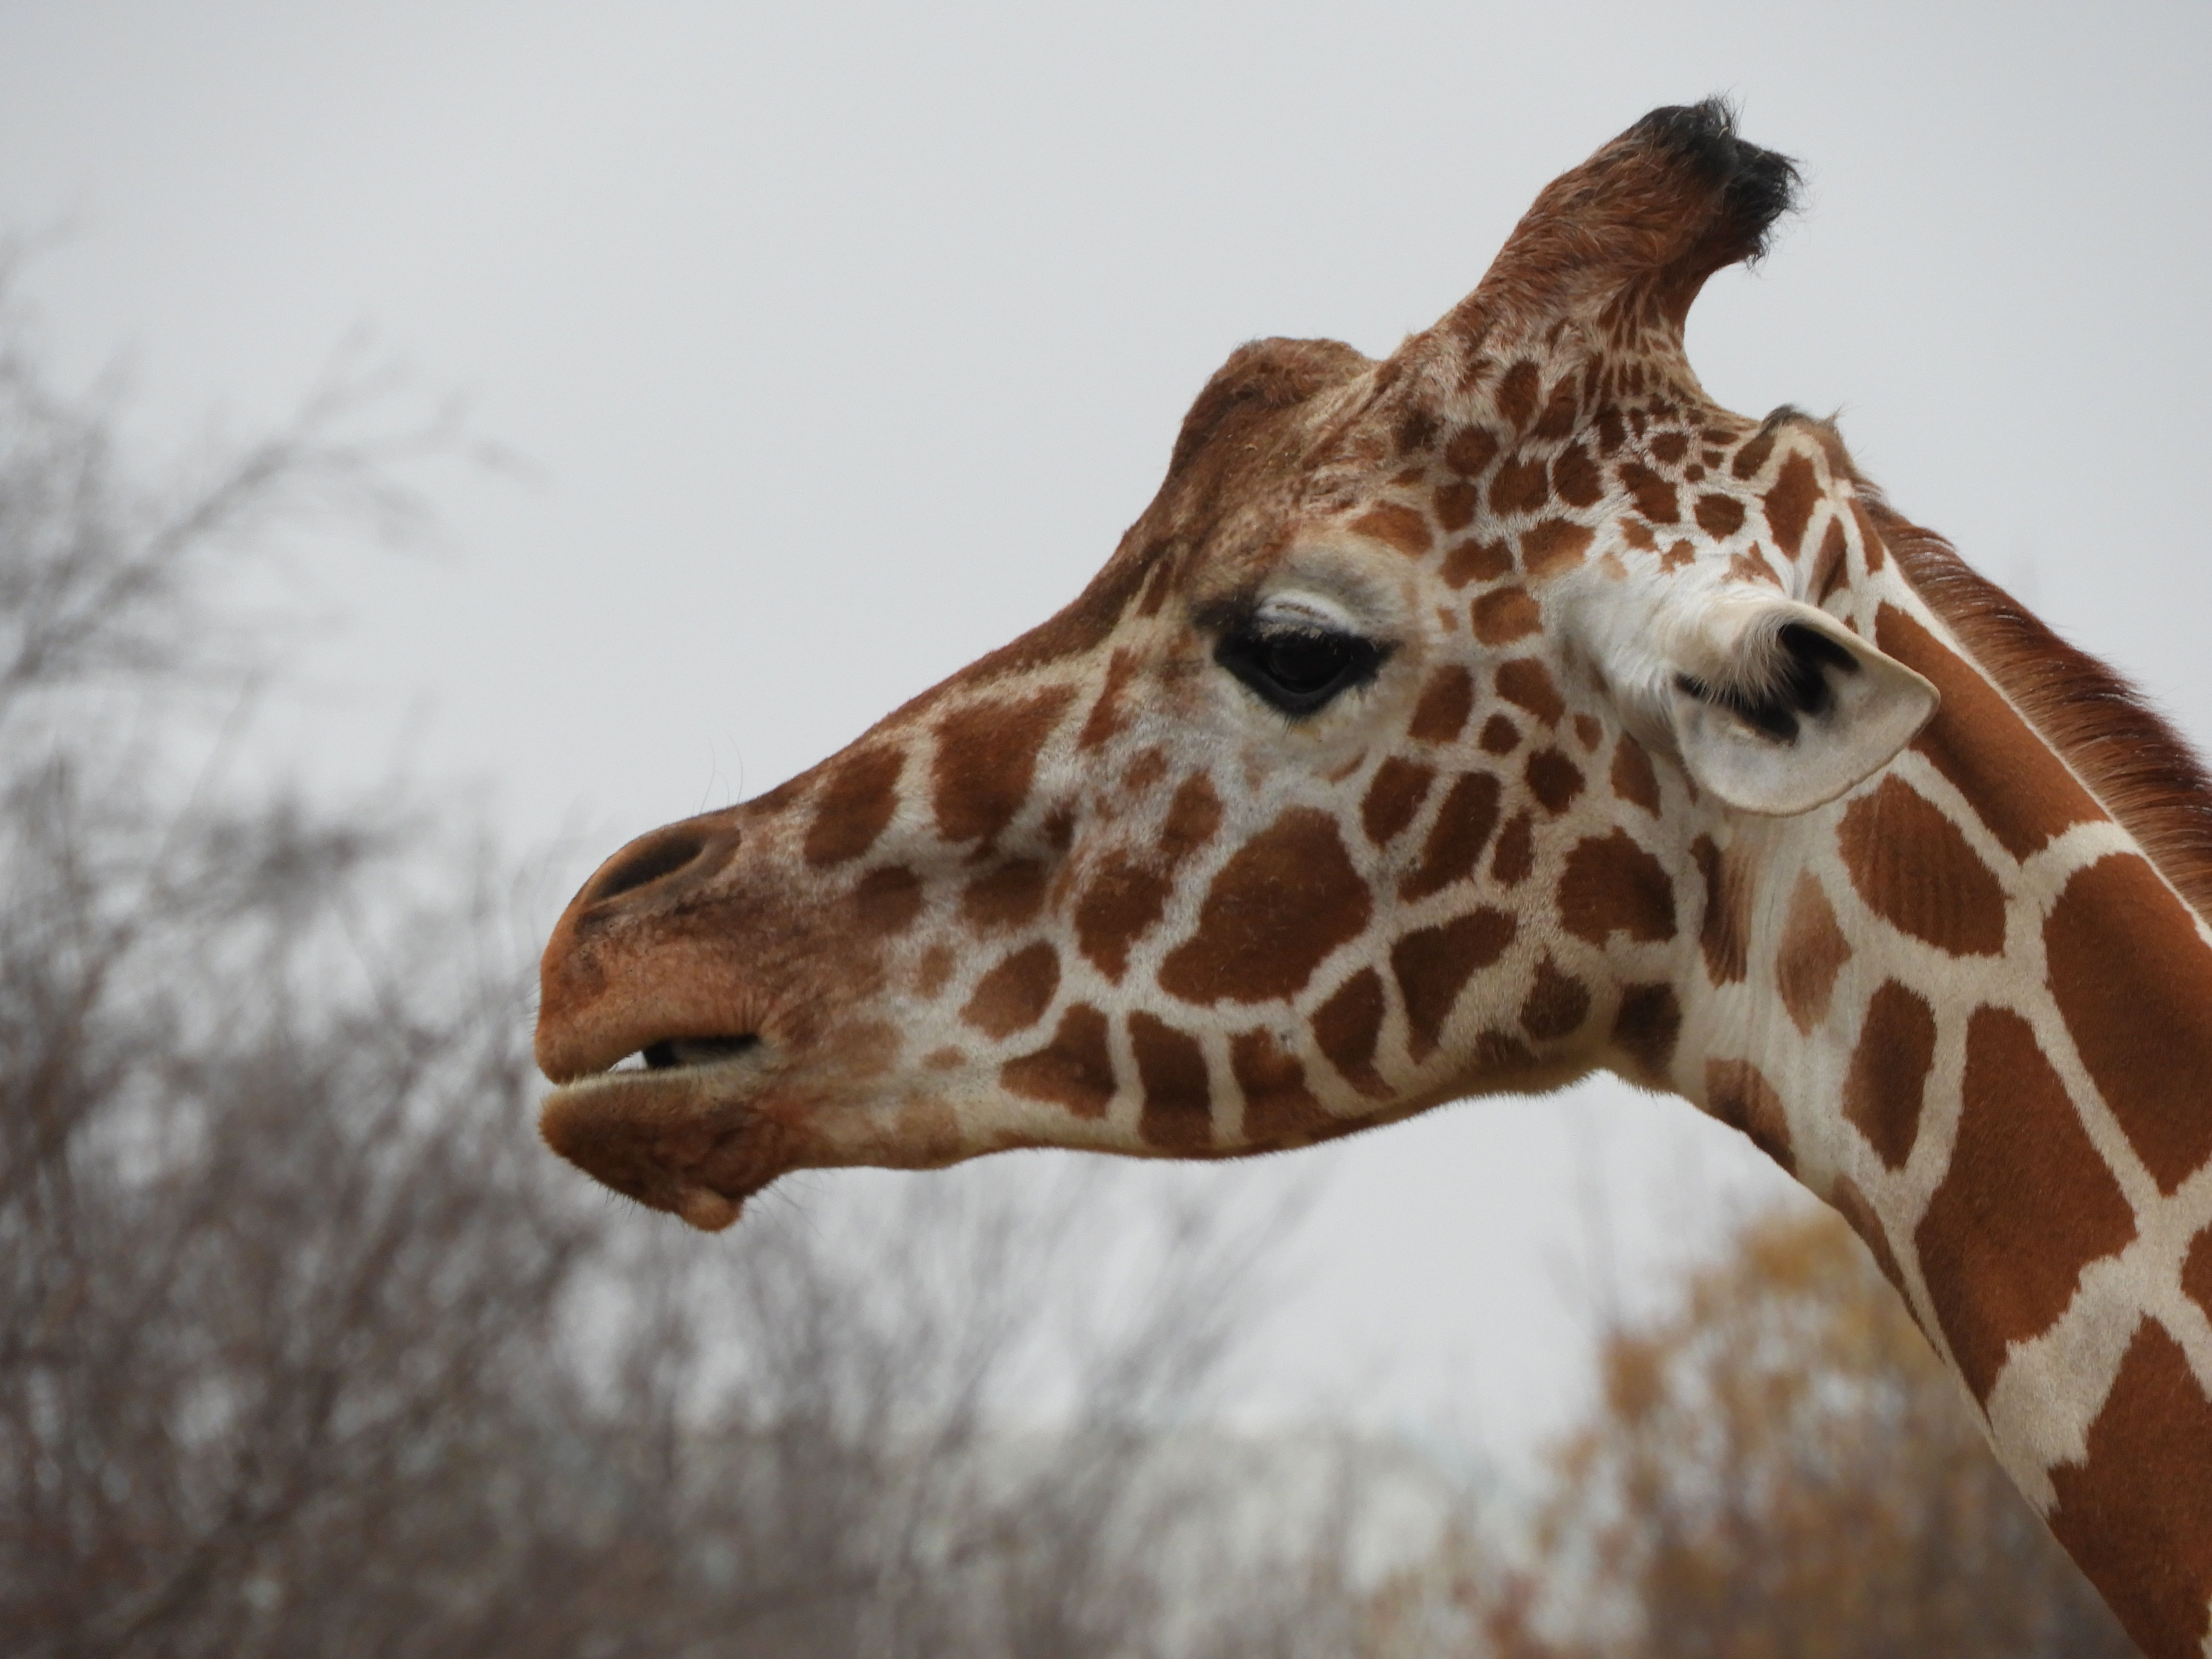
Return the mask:
{"type": "Polygon", "coordinates": [[[1674,664],[1668,717],[1701,787],[1745,812],[1809,812],[1902,750],[1936,688],[1825,611],[1730,604],[1674,664]]]}

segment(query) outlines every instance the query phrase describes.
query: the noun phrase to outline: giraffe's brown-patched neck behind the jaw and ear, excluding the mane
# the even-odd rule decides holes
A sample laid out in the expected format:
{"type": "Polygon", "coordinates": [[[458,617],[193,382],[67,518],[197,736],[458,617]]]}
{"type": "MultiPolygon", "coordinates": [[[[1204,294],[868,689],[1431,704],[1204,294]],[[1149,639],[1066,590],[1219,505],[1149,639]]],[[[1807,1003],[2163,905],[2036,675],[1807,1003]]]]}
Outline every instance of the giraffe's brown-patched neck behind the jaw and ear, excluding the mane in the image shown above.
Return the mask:
{"type": "Polygon", "coordinates": [[[1942,710],[1869,790],[1699,845],[1677,1079],[1865,1237],[2137,1639],[2197,1652],[2212,933],[1909,588],[1865,611],[1942,710]]]}

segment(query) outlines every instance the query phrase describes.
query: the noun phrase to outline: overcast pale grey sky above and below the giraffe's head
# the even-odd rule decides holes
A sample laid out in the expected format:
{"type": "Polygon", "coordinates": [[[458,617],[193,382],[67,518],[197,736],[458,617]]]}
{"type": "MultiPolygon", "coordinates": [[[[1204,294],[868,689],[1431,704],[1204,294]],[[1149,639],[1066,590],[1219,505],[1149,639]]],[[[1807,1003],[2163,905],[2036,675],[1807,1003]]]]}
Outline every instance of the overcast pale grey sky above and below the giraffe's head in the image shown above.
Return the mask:
{"type": "MultiPolygon", "coordinates": [[[[126,365],[157,445],[367,330],[529,462],[425,476],[445,557],[316,566],[330,695],[265,741],[469,783],[515,847],[582,830],[566,894],[1064,604],[1239,341],[1387,352],[1548,177],[1710,91],[1809,192],[1699,303],[1705,385],[1840,409],[2203,739],[2208,82],[2203,4],[0,0],[0,226],[66,232],[24,279],[49,354],[126,365]]],[[[1509,1460],[1575,1398],[1590,1194],[1635,1281],[1783,1190],[1613,1084],[1261,1179],[1316,1168],[1254,1402],[1509,1460]]]]}

